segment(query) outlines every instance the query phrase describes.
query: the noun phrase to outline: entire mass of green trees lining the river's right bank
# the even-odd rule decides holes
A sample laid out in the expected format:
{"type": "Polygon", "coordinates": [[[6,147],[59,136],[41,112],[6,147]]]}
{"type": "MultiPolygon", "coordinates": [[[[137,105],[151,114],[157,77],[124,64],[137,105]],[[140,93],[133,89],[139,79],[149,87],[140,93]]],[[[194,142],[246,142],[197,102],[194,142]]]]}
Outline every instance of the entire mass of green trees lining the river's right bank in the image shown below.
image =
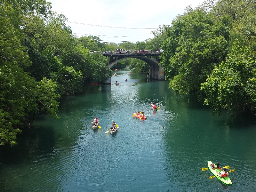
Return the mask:
{"type": "Polygon", "coordinates": [[[214,112],[256,112],[255,1],[205,1],[166,28],[160,65],[170,88],[214,112]]]}

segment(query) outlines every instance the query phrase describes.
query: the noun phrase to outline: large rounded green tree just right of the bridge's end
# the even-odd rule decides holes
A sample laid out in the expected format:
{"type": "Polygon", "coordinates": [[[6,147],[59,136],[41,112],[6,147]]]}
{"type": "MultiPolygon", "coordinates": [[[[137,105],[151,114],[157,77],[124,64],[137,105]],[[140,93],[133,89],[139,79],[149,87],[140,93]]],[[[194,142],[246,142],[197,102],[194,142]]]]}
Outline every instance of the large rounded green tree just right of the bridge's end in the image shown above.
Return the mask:
{"type": "Polygon", "coordinates": [[[220,27],[211,15],[199,8],[172,23],[160,65],[175,92],[198,94],[200,84],[224,60],[227,40],[220,35],[220,27]]]}

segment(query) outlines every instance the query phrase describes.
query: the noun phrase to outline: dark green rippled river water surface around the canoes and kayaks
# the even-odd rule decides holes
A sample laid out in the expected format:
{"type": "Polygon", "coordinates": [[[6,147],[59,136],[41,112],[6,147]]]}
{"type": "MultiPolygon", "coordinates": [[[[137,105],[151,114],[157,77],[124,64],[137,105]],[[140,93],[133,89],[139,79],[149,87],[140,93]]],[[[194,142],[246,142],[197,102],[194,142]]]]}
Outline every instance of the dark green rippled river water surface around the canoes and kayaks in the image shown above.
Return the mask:
{"type": "Polygon", "coordinates": [[[129,72],[63,98],[60,119],[39,116],[18,146],[2,146],[0,191],[256,191],[253,116],[212,116],[168,82],[129,72]],[[152,102],[161,109],[152,111],[152,102]],[[148,119],[132,117],[135,111],[148,119]],[[101,129],[92,130],[94,117],[101,129]],[[105,133],[112,120],[116,135],[105,133]],[[208,160],[235,169],[233,185],[210,180],[201,171],[208,160]]]}

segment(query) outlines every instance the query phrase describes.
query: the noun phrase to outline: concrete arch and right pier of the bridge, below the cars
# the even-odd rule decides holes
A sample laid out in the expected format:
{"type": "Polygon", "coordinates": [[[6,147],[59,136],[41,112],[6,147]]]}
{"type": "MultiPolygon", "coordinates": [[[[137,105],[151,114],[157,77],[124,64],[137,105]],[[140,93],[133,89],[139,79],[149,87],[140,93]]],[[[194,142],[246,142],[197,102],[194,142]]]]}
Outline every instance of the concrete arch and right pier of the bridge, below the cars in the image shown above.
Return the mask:
{"type": "Polygon", "coordinates": [[[150,66],[149,68],[149,77],[153,79],[158,80],[164,80],[164,70],[159,65],[160,59],[157,58],[159,54],[119,54],[119,55],[111,55],[108,56],[108,68],[111,68],[113,65],[115,65],[117,62],[128,59],[128,58],[135,58],[140,59],[150,66]],[[151,56],[154,56],[154,59],[151,59],[151,56]]]}

